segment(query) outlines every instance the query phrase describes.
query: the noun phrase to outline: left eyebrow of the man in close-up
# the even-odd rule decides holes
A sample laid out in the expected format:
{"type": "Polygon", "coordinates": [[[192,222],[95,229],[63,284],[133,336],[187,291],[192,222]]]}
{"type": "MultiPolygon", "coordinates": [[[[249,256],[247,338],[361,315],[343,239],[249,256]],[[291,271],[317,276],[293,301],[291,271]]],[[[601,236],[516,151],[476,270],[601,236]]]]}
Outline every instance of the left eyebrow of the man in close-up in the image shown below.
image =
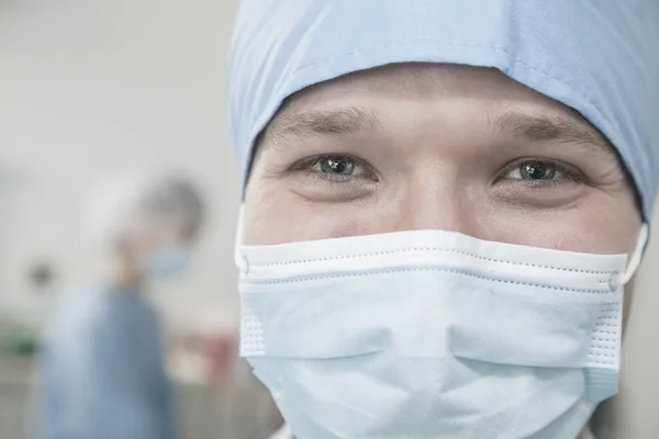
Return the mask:
{"type": "Polygon", "coordinates": [[[268,135],[275,138],[293,135],[349,135],[377,130],[381,126],[375,111],[345,106],[333,110],[309,110],[305,112],[283,113],[269,127],[268,135]]]}

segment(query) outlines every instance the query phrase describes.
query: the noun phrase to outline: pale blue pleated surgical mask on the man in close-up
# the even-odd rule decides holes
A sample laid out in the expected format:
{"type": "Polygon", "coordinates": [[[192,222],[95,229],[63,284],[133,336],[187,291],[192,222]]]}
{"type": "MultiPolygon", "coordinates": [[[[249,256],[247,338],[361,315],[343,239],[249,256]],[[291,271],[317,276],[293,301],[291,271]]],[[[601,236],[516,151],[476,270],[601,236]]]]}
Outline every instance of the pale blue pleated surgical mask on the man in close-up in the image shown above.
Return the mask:
{"type": "Polygon", "coordinates": [[[617,392],[626,255],[412,230],[238,247],[241,353],[299,439],[574,438],[617,392]]]}

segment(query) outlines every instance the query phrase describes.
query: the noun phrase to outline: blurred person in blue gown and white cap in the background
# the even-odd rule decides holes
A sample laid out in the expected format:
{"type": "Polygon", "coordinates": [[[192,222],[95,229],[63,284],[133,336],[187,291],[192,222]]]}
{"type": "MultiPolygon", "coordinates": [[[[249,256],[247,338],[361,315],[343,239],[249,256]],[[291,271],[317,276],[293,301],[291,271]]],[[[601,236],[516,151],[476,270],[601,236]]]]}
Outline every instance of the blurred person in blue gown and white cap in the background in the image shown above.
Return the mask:
{"type": "Polygon", "coordinates": [[[104,270],[64,301],[45,335],[37,438],[175,437],[161,324],[146,294],[186,271],[203,217],[200,191],[178,175],[120,176],[91,191],[104,270]]]}

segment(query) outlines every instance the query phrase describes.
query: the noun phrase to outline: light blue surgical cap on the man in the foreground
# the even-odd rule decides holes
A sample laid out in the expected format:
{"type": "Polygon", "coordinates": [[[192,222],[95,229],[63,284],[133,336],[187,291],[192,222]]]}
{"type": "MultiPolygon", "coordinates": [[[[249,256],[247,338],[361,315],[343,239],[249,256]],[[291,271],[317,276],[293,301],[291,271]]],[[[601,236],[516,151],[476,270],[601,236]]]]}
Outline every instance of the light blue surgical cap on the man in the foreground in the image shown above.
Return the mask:
{"type": "Polygon", "coordinates": [[[393,63],[495,67],[585,116],[619,151],[651,215],[659,176],[657,0],[243,0],[226,114],[248,171],[282,101],[393,63]]]}

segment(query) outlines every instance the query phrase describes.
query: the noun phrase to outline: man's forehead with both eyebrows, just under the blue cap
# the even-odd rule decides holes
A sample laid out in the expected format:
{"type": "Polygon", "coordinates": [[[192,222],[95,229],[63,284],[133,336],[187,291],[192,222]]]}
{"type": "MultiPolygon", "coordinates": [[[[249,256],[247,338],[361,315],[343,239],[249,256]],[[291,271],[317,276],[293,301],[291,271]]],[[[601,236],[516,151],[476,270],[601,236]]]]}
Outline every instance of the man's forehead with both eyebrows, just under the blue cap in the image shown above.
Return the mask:
{"type": "Polygon", "coordinates": [[[484,128],[528,142],[580,145],[619,165],[617,151],[580,113],[500,70],[421,63],[364,70],[293,94],[257,146],[381,128],[422,134],[439,120],[455,133],[484,128]]]}

